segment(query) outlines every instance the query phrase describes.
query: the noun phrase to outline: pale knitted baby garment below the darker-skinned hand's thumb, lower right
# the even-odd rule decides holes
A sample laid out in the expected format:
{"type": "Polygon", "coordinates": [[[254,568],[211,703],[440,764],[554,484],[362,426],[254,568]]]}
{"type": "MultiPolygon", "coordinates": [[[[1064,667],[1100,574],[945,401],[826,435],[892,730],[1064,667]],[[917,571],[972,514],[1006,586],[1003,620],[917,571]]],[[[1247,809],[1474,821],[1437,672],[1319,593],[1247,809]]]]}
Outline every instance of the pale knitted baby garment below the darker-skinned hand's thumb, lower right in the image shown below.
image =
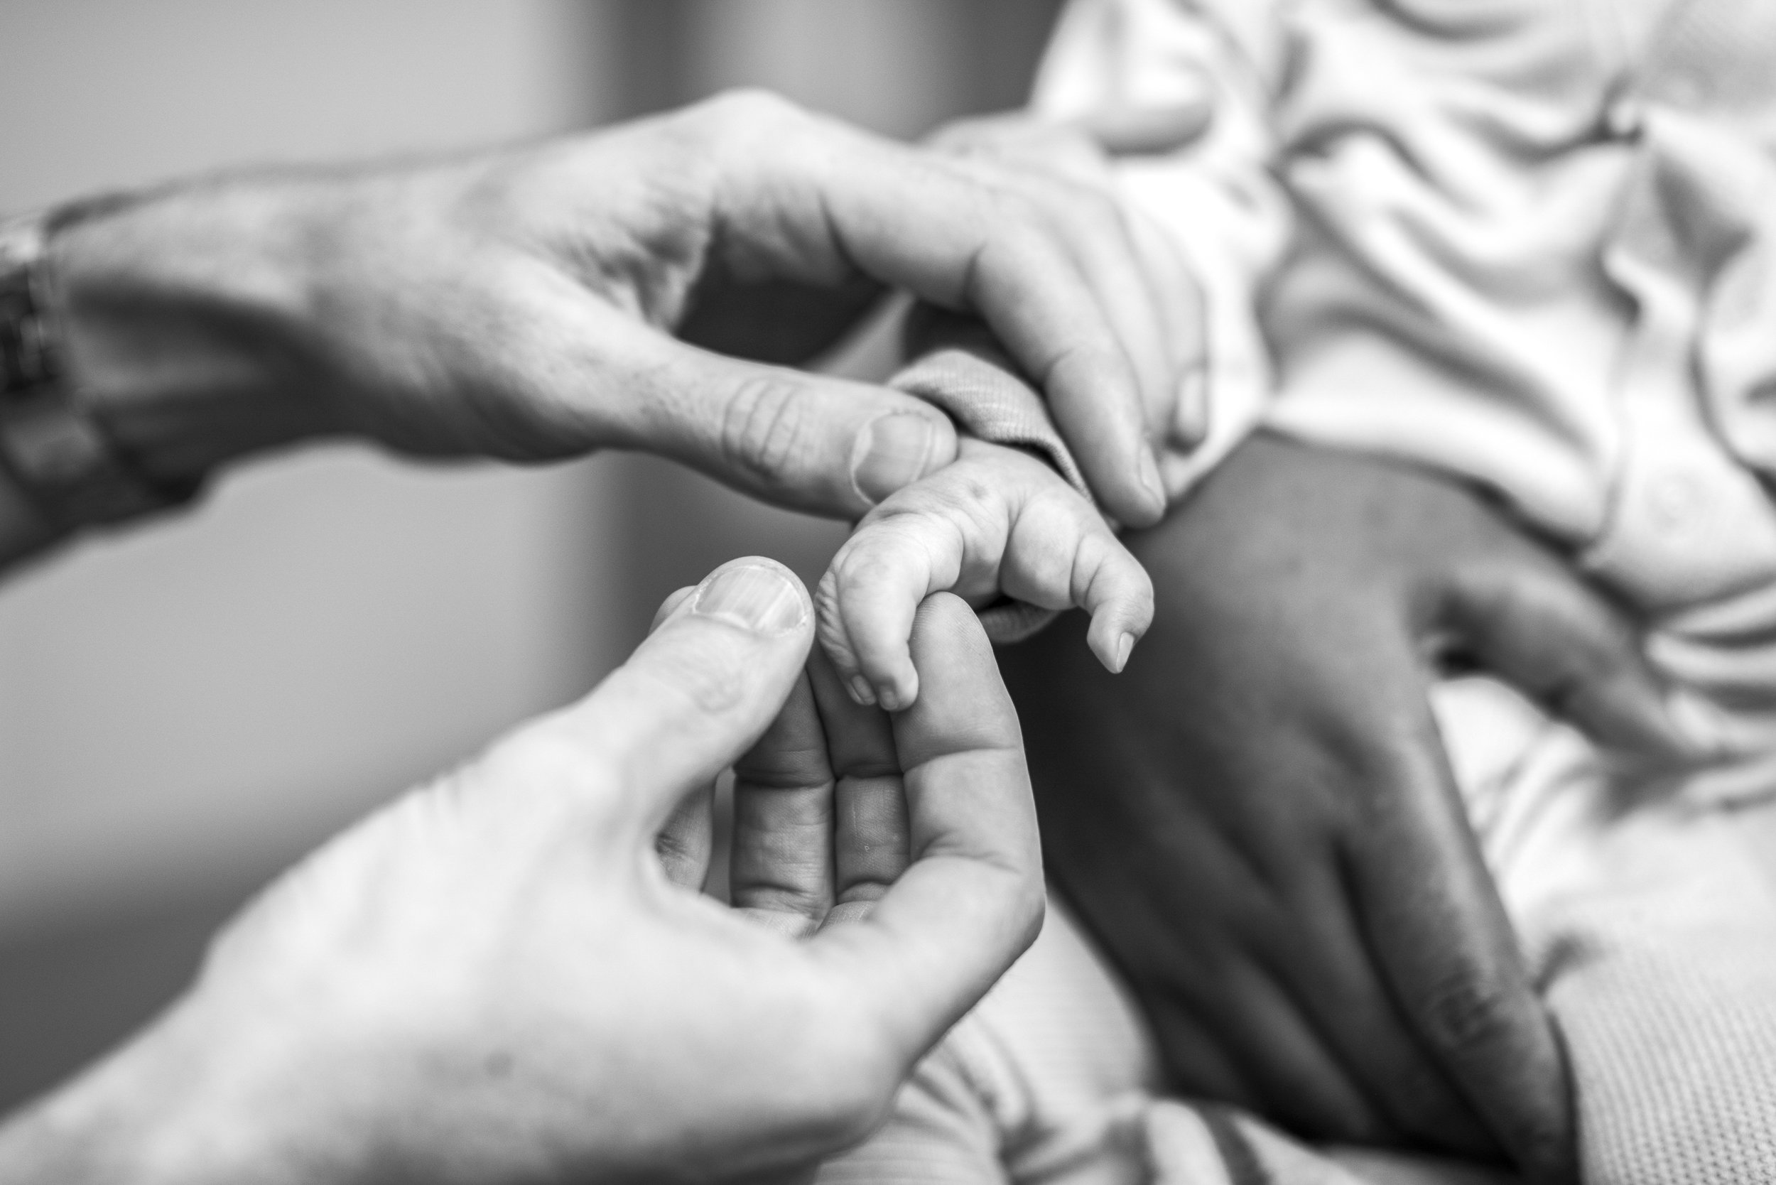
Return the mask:
{"type": "Polygon", "coordinates": [[[1776,803],[1637,787],[1508,702],[1449,686],[1439,723],[1566,1046],[1584,1181],[1776,1181],[1776,803]]]}

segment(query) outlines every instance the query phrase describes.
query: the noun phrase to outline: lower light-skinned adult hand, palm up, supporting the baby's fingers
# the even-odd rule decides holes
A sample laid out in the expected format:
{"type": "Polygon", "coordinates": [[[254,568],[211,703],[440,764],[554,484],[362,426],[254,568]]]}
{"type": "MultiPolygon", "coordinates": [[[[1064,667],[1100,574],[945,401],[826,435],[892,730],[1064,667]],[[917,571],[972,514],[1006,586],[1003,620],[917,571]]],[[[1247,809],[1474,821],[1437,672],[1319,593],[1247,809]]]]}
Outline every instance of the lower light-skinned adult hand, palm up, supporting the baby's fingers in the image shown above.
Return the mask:
{"type": "Polygon", "coordinates": [[[0,1181],[733,1180],[861,1139],[1032,940],[1041,860],[973,613],[927,602],[892,720],[810,680],[812,629],[780,565],[714,572],[274,885],[0,1181]],[[728,908],[694,805],[735,759],[728,908]]]}

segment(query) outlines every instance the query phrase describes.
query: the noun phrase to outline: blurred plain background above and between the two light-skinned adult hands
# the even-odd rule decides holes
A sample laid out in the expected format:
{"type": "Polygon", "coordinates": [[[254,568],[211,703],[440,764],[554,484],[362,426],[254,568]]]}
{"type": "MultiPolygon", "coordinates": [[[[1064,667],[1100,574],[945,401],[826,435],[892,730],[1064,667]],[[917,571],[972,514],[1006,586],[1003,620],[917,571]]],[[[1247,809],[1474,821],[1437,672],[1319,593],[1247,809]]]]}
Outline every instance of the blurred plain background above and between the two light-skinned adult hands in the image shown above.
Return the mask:
{"type": "MultiPolygon", "coordinates": [[[[1016,107],[1058,0],[7,0],[0,211],[765,85],[911,137],[1016,107]]],[[[735,554],[842,528],[634,457],[311,449],[0,586],[0,1110],[155,1013],[330,831],[591,686],[735,554]]]]}

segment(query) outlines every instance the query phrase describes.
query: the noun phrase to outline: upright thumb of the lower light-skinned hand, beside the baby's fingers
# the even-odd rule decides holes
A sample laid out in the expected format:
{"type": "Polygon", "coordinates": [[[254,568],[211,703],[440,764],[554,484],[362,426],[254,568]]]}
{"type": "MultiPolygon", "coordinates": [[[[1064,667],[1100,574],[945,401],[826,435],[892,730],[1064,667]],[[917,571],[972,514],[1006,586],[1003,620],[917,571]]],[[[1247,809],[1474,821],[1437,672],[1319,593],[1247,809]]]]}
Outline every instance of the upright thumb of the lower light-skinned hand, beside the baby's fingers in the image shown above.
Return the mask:
{"type": "Polygon", "coordinates": [[[813,606],[796,574],[774,560],[730,560],[591,695],[501,750],[551,775],[570,812],[652,840],[686,792],[764,734],[812,641],[813,606]]]}

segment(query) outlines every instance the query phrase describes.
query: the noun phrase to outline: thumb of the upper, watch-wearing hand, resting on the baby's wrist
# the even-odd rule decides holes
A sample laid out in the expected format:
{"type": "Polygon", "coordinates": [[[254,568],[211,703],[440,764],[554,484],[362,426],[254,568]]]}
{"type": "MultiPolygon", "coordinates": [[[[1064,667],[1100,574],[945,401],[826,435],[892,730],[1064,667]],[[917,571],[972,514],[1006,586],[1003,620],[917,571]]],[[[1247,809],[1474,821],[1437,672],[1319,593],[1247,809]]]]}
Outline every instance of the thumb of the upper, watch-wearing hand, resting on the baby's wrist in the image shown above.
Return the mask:
{"type": "Polygon", "coordinates": [[[790,510],[858,519],[955,458],[955,426],[876,384],[671,343],[639,446],[790,510]]]}

